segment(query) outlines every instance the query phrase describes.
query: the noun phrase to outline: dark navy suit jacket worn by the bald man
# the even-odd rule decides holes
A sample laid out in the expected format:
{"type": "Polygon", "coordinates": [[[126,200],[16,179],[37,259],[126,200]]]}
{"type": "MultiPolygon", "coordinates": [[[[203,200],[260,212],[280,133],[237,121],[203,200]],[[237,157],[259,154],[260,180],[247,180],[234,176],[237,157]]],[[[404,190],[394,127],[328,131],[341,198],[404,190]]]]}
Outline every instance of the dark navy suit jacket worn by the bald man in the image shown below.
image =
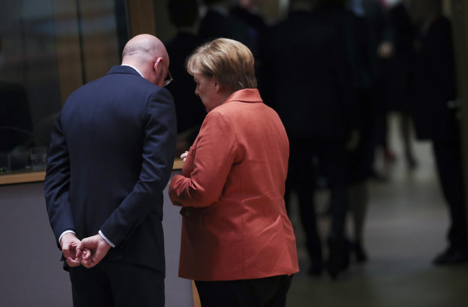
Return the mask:
{"type": "Polygon", "coordinates": [[[99,230],[116,245],[103,261],[164,272],[162,191],[176,147],[171,94],[129,66],[70,95],[52,131],[45,198],[58,239],[99,230]]]}

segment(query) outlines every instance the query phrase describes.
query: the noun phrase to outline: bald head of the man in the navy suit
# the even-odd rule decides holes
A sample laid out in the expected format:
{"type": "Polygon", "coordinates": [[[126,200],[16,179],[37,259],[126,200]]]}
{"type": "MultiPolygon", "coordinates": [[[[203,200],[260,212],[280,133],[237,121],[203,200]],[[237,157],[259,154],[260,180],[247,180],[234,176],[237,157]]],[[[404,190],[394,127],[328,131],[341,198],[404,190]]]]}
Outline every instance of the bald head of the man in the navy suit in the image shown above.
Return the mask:
{"type": "Polygon", "coordinates": [[[169,56],[162,41],[150,34],[140,34],[123,48],[122,65],[138,68],[145,79],[159,85],[160,79],[164,80],[164,70],[169,68],[169,56]]]}

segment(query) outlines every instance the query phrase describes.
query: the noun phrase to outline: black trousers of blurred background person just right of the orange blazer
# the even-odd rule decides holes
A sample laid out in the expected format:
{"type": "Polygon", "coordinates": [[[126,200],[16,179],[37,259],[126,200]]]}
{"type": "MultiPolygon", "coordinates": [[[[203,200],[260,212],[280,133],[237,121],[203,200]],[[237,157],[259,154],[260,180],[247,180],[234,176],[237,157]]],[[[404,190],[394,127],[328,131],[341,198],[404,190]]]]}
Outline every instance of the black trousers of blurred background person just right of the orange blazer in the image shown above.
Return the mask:
{"type": "Polygon", "coordinates": [[[313,266],[322,265],[322,245],[317,230],[313,192],[320,175],[327,178],[330,189],[332,223],[330,237],[344,236],[348,195],[348,153],[345,142],[327,139],[290,138],[290,161],[285,200],[296,191],[306,245],[313,266]]]}

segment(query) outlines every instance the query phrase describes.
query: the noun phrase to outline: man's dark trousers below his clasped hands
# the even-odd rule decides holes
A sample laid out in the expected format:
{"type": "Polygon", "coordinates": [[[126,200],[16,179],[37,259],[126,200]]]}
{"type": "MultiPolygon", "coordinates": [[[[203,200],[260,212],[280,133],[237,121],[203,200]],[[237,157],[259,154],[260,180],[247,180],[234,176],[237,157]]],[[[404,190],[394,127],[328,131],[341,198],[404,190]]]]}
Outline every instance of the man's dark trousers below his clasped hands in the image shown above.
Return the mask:
{"type": "Polygon", "coordinates": [[[164,275],[147,266],[101,262],[69,273],[74,307],[164,307],[164,275]]]}

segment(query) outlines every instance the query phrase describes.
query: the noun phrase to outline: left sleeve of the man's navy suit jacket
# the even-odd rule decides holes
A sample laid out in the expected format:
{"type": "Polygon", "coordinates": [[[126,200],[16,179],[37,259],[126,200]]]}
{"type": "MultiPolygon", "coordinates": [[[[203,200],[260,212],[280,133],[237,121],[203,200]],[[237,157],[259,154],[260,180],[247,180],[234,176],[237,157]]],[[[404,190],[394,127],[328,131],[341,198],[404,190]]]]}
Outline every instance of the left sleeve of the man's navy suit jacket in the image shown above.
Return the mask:
{"type": "Polygon", "coordinates": [[[44,184],[45,205],[49,215],[49,222],[60,248],[60,234],[67,229],[75,230],[69,191],[70,157],[60,114],[52,129],[44,184]]]}

